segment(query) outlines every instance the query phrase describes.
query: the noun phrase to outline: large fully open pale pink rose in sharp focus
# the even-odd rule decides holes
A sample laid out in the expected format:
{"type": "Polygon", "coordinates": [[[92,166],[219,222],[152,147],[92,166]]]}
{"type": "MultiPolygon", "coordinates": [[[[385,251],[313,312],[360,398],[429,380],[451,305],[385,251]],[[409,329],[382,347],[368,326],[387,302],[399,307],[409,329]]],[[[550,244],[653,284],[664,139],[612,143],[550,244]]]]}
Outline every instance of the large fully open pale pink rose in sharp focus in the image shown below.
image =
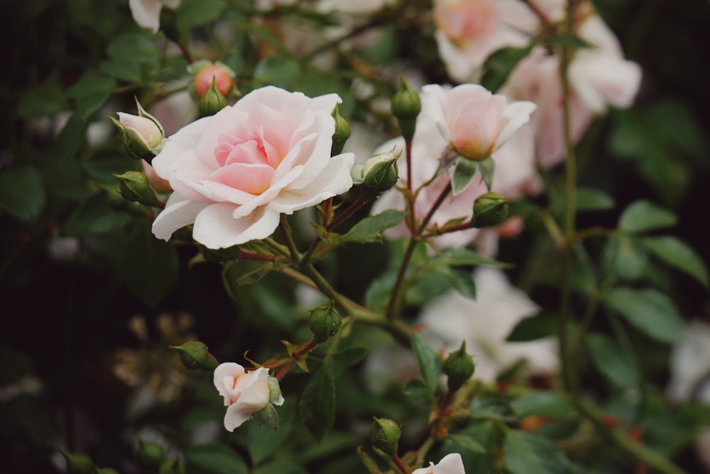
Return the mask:
{"type": "Polygon", "coordinates": [[[330,156],[338,102],[263,87],[170,136],[153,159],[175,190],[153,222],[155,237],[194,224],[205,247],[244,244],[269,237],[281,214],[349,190],[354,156],[330,156]]]}

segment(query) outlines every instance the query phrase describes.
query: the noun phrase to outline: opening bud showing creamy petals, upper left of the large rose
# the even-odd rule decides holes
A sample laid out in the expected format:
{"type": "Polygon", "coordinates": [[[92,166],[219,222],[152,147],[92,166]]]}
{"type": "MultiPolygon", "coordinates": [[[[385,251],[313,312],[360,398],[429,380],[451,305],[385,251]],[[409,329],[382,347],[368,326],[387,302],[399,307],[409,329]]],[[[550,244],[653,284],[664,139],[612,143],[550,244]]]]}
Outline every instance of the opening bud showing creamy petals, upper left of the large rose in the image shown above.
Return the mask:
{"type": "Polygon", "coordinates": [[[160,153],[165,140],[165,130],[158,119],[148,114],[136,99],[138,115],[118,112],[119,119],[109,117],[121,131],[121,141],[124,149],[131,157],[144,159],[150,163],[153,157],[160,153]]]}

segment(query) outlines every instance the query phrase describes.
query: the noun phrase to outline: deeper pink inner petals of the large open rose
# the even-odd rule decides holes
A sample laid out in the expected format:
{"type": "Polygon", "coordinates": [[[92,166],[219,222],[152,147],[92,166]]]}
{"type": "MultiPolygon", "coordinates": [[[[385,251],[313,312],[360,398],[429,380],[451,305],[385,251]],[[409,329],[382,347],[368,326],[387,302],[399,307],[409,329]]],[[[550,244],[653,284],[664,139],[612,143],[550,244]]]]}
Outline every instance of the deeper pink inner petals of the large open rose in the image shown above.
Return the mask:
{"type": "Polygon", "coordinates": [[[246,136],[223,134],[214,149],[214,157],[220,168],[212,175],[213,181],[254,195],[271,186],[275,168],[282,158],[258,130],[246,136]]]}

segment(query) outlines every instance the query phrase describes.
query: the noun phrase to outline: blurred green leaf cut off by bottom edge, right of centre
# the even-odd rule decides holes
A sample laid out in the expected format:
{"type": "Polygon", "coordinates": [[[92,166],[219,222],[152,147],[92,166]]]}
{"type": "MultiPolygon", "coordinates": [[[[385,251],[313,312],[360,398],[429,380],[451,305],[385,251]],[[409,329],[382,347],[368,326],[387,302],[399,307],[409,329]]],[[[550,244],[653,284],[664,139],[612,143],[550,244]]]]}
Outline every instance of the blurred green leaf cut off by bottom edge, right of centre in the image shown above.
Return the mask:
{"type": "Polygon", "coordinates": [[[569,473],[569,459],[548,438],[510,430],[503,442],[503,457],[512,474],[569,473]]]}

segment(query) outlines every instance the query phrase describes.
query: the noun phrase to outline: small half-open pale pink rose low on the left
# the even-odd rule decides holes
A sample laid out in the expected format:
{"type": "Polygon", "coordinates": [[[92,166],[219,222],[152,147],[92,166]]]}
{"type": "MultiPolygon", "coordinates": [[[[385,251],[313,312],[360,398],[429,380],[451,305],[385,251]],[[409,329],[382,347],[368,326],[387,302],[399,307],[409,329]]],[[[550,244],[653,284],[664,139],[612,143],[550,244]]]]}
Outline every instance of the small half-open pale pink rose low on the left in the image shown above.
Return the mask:
{"type": "Polygon", "coordinates": [[[283,397],[275,401],[272,399],[268,377],[268,369],[265,367],[246,372],[236,362],[224,362],[217,366],[214,370],[214,387],[224,397],[224,406],[227,407],[224,415],[224,428],[227,431],[234,431],[270,402],[283,404],[283,397]]]}

